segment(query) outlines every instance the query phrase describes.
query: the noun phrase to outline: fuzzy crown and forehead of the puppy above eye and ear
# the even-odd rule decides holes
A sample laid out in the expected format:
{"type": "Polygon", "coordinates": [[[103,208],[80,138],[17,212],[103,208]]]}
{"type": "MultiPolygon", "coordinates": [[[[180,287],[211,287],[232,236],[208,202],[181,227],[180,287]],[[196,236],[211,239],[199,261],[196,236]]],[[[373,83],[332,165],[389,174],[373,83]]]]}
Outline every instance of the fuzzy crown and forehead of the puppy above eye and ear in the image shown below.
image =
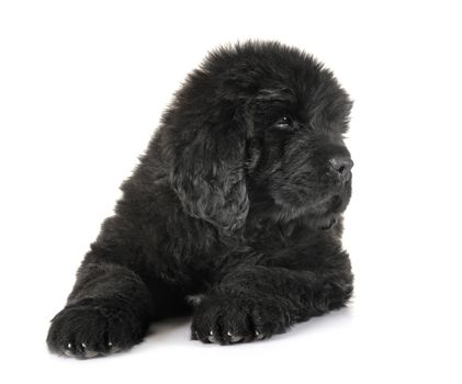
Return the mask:
{"type": "MultiPolygon", "coordinates": [[[[211,53],[195,74],[213,100],[289,105],[312,124],[346,126],[351,101],[334,74],[312,55],[273,42],[248,42],[211,53]]],[[[206,93],[206,92],[205,92],[206,93]]],[[[198,98],[205,98],[204,92],[198,98]]],[[[346,127],[341,128],[346,131],[346,127]]]]}

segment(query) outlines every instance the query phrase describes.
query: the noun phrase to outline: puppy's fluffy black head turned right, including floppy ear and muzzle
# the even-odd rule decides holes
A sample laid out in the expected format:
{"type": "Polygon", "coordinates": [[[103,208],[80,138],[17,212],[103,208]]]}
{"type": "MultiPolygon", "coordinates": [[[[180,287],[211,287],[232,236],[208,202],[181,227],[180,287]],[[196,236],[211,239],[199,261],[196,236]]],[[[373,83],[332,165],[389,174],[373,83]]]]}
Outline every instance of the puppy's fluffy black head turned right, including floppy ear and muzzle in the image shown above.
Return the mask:
{"type": "Polygon", "coordinates": [[[164,117],[183,208],[225,233],[249,212],[329,228],[351,194],[350,109],[333,74],[297,49],[215,50],[164,117]]]}

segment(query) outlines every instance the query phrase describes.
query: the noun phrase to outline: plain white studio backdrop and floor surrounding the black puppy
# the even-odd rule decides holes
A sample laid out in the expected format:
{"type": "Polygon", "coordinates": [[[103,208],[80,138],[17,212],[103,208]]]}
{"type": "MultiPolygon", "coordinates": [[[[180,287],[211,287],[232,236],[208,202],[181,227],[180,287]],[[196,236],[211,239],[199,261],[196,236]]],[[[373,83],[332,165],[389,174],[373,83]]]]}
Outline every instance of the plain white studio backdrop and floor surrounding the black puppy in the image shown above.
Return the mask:
{"type": "Polygon", "coordinates": [[[461,11],[457,1],[1,1],[2,383],[461,383],[461,11]],[[349,309],[236,347],[189,319],[128,353],[50,355],[49,319],[185,74],[271,38],[356,101],[349,309]]]}

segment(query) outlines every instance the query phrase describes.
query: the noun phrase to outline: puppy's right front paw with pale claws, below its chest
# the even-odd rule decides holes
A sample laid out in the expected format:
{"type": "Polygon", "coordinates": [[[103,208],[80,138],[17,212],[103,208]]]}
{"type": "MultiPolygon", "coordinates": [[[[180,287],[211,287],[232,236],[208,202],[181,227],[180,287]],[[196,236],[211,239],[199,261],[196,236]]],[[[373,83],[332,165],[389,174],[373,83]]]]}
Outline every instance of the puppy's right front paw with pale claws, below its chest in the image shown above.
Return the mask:
{"type": "Polygon", "coordinates": [[[291,324],[285,303],[273,298],[212,296],[195,308],[191,338],[232,345],[282,334],[291,324]]]}

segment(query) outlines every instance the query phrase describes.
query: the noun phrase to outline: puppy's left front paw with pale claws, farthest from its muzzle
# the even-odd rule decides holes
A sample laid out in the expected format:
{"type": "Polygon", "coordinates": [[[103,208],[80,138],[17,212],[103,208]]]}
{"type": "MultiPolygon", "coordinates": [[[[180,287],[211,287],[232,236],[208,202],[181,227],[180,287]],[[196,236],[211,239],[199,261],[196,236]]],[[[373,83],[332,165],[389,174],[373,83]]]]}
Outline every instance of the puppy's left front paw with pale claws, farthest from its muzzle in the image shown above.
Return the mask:
{"type": "Polygon", "coordinates": [[[128,349],[142,339],[143,329],[129,310],[76,305],[53,318],[46,341],[52,352],[89,359],[128,349]]]}

